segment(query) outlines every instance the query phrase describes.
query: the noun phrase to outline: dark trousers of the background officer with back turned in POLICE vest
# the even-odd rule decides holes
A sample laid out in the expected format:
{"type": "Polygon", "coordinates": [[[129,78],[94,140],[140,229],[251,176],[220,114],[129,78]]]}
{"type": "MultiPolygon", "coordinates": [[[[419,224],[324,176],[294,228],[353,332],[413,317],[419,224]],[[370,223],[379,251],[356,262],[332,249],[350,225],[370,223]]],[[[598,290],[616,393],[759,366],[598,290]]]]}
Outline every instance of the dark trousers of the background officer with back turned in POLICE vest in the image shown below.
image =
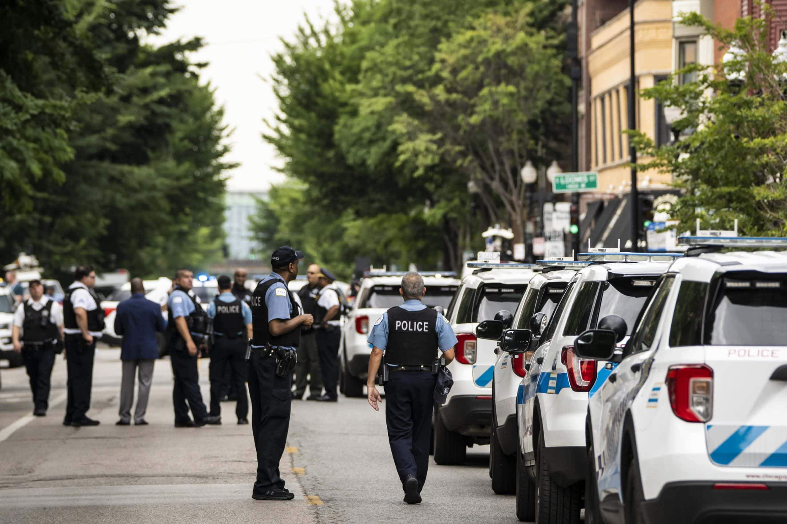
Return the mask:
{"type": "Polygon", "coordinates": [[[210,414],[221,415],[221,397],[230,383],[238,391],[235,415],[245,419],[249,415],[249,398],[246,396],[246,341],[216,337],[210,350],[210,414]],[[226,382],[227,372],[230,382],[226,382]]]}

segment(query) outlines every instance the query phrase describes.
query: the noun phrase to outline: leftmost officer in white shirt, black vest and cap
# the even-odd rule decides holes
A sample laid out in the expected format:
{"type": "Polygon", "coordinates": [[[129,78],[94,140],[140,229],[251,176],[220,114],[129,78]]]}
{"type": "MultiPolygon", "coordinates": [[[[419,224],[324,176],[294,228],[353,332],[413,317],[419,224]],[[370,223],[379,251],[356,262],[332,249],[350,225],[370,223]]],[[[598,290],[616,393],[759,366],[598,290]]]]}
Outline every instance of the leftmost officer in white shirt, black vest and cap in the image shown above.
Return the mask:
{"type": "Polygon", "coordinates": [[[13,314],[13,350],[22,353],[33,393],[33,415],[49,408],[50,378],[57,342],[63,339],[63,310],[43,294],[41,280],[31,280],[30,298],[13,314]],[[20,341],[21,332],[21,341],[20,341]]]}

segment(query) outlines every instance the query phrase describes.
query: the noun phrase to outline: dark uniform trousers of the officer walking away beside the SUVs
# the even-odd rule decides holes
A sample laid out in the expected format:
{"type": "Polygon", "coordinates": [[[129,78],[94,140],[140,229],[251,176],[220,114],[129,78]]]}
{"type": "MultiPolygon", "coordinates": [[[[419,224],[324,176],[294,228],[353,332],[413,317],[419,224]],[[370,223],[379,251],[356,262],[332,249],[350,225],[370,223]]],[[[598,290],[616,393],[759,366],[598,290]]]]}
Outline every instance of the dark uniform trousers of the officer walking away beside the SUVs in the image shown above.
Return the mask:
{"type": "Polygon", "coordinates": [[[386,383],[386,425],[393,464],[404,485],[409,475],[427,482],[434,409],[431,372],[393,372],[386,383]]]}

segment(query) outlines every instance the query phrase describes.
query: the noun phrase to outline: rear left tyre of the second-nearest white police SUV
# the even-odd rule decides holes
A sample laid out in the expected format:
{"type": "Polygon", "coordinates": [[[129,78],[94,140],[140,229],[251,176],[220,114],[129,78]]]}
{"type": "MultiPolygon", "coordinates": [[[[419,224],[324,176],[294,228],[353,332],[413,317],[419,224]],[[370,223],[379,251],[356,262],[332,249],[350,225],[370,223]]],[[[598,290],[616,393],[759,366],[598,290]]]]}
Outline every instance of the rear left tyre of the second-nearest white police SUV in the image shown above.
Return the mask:
{"type": "Polygon", "coordinates": [[[549,475],[546,464],[544,432],[538,434],[536,456],[536,524],[579,524],[582,508],[582,482],[563,488],[549,475]]]}

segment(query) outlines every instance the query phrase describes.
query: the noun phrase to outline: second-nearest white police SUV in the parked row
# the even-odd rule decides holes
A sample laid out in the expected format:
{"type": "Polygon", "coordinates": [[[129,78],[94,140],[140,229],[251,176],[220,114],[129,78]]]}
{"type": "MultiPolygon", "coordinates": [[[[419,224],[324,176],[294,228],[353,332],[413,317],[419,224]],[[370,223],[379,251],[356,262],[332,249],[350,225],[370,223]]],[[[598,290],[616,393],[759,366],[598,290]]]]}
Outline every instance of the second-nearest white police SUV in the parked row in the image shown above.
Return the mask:
{"type": "Polygon", "coordinates": [[[586,473],[588,394],[609,372],[597,372],[595,361],[582,361],[575,353],[574,339],[601,324],[615,326],[621,342],[634,328],[656,279],[669,266],[668,262],[630,262],[681,256],[599,251],[578,255],[593,261],[556,262],[586,267],[571,279],[521,383],[517,399],[523,453],[518,465],[520,520],[578,522],[586,473]]]}

